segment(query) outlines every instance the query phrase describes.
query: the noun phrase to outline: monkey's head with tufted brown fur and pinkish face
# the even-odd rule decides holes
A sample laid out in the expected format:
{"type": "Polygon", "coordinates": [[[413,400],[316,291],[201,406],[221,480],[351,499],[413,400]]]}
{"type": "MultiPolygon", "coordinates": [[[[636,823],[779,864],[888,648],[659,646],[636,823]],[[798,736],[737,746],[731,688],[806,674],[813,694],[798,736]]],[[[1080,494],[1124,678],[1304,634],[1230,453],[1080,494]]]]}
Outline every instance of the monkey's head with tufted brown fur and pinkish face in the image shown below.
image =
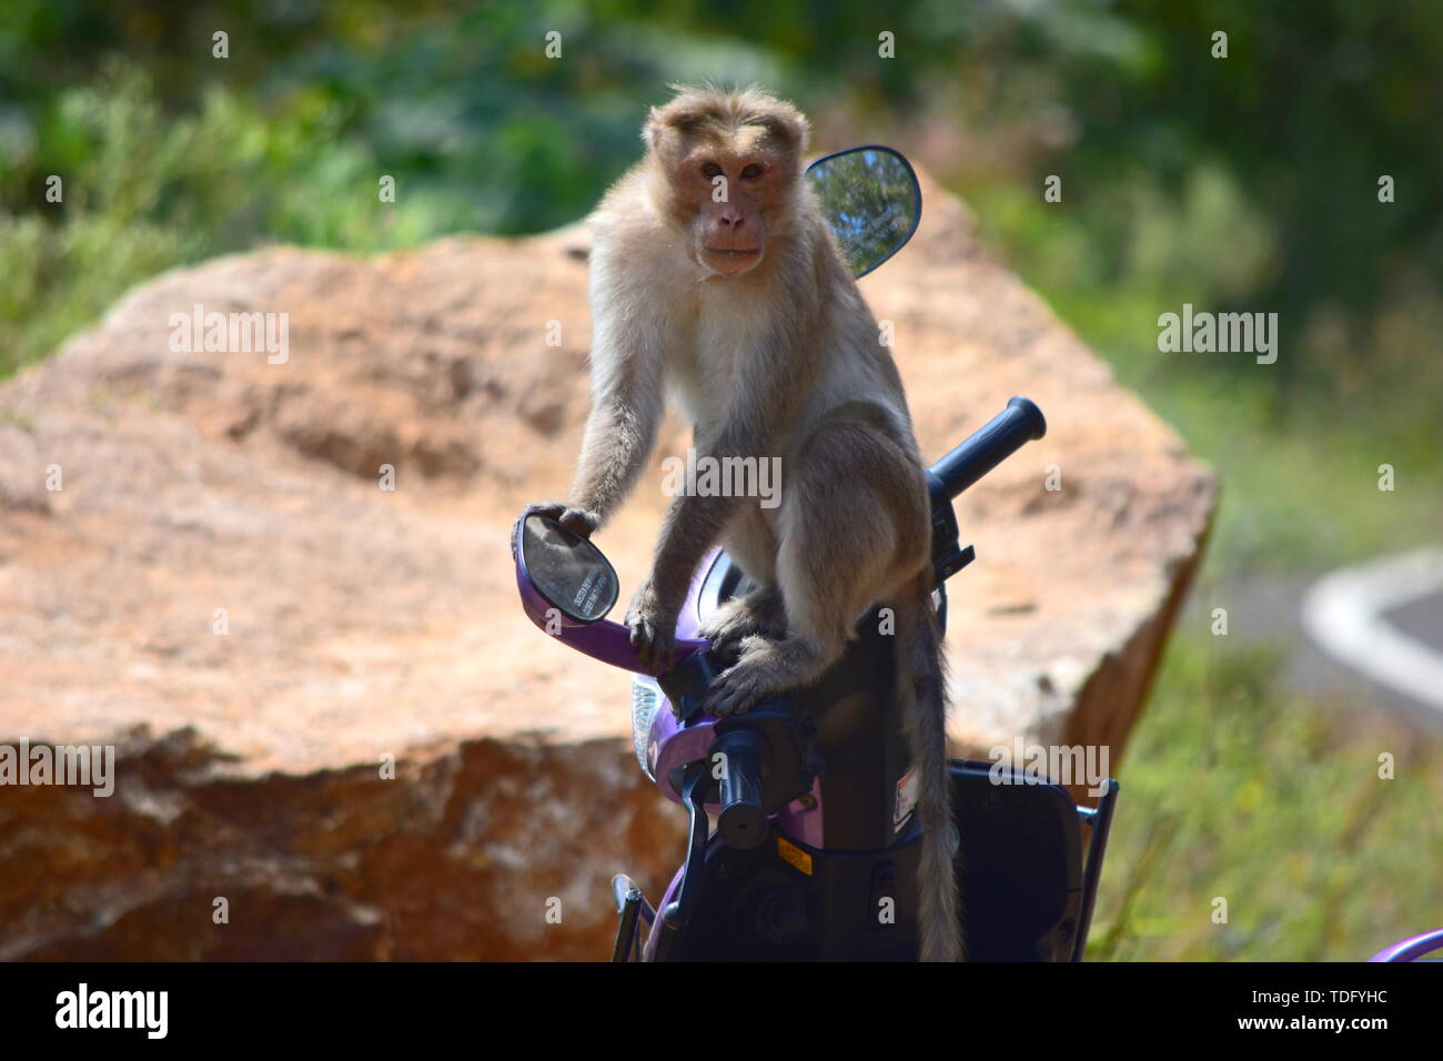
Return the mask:
{"type": "Polygon", "coordinates": [[[675,98],[654,107],[642,130],[652,201],[687,230],[691,258],[707,274],[747,273],[795,215],[807,118],[755,87],[672,88],[675,98]]]}

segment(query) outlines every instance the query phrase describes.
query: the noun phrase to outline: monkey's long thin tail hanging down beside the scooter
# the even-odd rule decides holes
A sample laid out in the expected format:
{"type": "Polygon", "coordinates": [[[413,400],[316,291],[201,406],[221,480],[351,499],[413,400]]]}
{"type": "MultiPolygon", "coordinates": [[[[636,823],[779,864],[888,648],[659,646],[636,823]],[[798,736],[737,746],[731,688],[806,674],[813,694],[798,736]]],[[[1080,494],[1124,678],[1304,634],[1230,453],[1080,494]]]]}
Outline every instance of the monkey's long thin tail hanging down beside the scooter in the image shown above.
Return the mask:
{"type": "Polygon", "coordinates": [[[918,870],[918,921],[922,961],[961,961],[964,957],[957,869],[952,857],[952,784],[947,772],[947,654],[932,608],[931,567],[906,590],[906,658],[899,660],[912,680],[913,709],[908,719],[912,768],[918,771],[918,814],[922,862],[918,870]]]}

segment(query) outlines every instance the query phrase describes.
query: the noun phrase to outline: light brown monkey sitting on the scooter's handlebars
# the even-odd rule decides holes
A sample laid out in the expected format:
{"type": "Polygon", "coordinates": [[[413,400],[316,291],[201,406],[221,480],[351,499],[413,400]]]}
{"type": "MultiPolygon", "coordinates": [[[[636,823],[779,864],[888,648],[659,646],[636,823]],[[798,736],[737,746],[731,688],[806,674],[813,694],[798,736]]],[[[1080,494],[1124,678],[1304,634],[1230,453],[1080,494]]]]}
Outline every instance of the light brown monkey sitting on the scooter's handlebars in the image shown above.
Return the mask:
{"type": "Polygon", "coordinates": [[[626,611],[667,665],[691,577],[720,543],[760,586],[701,634],[727,660],[704,707],[745,712],[815,681],[873,605],[895,609],[919,775],[921,957],[960,960],[944,648],[931,501],[902,378],[804,179],[810,126],[759,89],[672,87],[645,153],[589,218],[592,409],[569,501],[590,537],[635,488],[670,397],[698,455],[781,458],[781,504],[683,494],[626,611]]]}

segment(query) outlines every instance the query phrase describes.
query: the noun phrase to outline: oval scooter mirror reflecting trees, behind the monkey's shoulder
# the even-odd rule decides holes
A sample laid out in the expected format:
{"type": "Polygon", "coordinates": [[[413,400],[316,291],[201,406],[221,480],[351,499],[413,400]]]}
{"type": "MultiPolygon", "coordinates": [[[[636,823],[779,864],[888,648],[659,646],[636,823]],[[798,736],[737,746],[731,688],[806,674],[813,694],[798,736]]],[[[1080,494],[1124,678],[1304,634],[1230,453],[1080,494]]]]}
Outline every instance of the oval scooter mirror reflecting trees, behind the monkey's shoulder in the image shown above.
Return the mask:
{"type": "Polygon", "coordinates": [[[807,167],[821,212],[853,276],[866,276],[912,238],[922,189],[912,166],[889,147],[853,147],[807,167]]]}

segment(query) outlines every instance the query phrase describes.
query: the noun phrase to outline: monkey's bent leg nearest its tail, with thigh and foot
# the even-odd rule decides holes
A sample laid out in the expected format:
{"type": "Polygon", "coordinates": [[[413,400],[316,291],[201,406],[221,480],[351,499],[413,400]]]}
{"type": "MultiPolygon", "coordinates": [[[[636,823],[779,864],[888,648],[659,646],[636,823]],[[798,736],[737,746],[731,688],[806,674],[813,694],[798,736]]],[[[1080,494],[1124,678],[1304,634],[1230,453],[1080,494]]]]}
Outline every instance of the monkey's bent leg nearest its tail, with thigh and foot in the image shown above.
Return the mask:
{"type": "Polygon", "coordinates": [[[916,466],[885,435],[863,423],[820,430],[797,458],[782,498],[776,580],[786,637],[743,638],[707,709],[745,712],[821,677],[841,657],[857,616],[915,576],[929,549],[922,502],[916,466]]]}

